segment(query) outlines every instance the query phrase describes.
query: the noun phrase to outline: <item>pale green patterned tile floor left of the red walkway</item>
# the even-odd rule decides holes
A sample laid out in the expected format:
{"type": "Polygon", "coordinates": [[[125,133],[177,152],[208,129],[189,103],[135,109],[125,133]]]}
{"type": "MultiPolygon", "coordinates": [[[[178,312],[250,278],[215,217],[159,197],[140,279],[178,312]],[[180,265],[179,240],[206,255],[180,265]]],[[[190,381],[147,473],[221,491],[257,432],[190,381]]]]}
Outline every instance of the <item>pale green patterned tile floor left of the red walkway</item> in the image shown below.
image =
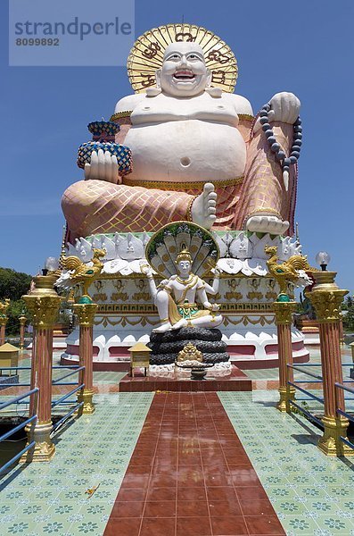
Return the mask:
{"type": "Polygon", "coordinates": [[[2,536],[102,534],[152,396],[96,395],[95,413],[55,436],[51,463],[13,469],[0,493],[2,536]]]}

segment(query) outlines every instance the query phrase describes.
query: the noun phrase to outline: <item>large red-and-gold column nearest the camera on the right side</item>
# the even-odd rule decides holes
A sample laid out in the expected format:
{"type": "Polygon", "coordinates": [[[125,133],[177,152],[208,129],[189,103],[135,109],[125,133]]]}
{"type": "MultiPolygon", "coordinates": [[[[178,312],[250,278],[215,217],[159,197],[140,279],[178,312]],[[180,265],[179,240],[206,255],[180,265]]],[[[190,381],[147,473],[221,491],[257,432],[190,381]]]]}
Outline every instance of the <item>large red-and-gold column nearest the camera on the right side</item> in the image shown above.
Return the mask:
{"type": "Polygon", "coordinates": [[[344,411],[344,392],[335,383],[342,383],[341,356],[341,304],[348,290],[342,290],[334,282],[336,272],[312,272],[314,287],[307,292],[315,307],[319,323],[322,377],[325,399],[325,426],[323,437],[318,441],[326,456],[354,456],[340,436],[346,438],[348,419],[337,414],[337,408],[344,411]]]}

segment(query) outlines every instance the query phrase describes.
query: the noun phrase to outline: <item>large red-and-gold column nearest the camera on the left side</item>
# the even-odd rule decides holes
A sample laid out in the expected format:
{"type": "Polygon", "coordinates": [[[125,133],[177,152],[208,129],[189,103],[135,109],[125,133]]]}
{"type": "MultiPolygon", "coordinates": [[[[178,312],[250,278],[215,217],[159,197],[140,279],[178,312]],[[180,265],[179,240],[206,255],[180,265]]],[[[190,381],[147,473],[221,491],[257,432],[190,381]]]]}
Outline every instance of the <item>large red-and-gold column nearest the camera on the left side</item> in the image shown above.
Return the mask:
{"type": "Polygon", "coordinates": [[[37,387],[37,423],[26,428],[29,442],[36,445],[29,450],[21,461],[49,462],[55,447],[50,437],[52,423],[52,364],[53,364],[53,326],[58,314],[62,297],[54,290],[56,275],[38,275],[34,278],[36,288],[23,300],[33,315],[33,353],[31,364],[31,389],[37,387]]]}

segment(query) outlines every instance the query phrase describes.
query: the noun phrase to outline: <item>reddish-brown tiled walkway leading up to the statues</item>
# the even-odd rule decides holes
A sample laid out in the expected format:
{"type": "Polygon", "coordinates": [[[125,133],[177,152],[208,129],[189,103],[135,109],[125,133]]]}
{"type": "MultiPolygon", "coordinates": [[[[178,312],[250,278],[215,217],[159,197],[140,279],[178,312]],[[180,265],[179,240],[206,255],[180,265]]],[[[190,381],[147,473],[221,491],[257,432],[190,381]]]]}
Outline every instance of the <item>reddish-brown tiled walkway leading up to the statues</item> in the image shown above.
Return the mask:
{"type": "Polygon", "coordinates": [[[216,393],[155,395],[104,536],[285,534],[216,393]]]}

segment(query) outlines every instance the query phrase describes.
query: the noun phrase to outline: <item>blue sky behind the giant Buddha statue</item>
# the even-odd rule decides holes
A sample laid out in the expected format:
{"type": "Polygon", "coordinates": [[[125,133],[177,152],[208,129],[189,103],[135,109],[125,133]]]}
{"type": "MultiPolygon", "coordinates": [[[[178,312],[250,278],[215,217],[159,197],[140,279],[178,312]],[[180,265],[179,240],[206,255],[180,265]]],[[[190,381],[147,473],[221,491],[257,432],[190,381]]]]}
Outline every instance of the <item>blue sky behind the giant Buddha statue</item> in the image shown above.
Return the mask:
{"type": "MultiPolygon", "coordinates": [[[[34,273],[46,256],[60,253],[60,200],[82,177],[76,154],[90,138],[87,123],[108,118],[131,88],[123,67],[8,67],[6,4],[0,5],[0,266],[34,273]]],[[[278,91],[300,97],[301,243],[311,263],[318,250],[330,252],[338,283],[353,292],[354,2],[136,0],[136,37],[183,16],[231,46],[239,63],[236,92],[255,112],[278,91]]]]}

